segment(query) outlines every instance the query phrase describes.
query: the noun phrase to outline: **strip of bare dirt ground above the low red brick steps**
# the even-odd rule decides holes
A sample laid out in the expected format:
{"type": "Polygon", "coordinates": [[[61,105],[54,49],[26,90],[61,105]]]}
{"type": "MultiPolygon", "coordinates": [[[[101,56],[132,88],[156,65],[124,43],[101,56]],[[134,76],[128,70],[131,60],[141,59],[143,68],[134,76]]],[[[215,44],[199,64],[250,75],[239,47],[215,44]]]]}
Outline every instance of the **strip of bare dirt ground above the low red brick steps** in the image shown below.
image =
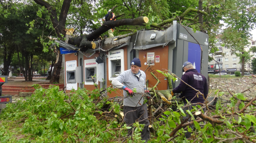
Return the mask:
{"type": "Polygon", "coordinates": [[[33,81],[25,81],[25,79],[12,79],[8,80],[8,83],[3,86],[32,86],[34,84],[49,84],[50,80],[45,79],[33,79],[33,81]]]}

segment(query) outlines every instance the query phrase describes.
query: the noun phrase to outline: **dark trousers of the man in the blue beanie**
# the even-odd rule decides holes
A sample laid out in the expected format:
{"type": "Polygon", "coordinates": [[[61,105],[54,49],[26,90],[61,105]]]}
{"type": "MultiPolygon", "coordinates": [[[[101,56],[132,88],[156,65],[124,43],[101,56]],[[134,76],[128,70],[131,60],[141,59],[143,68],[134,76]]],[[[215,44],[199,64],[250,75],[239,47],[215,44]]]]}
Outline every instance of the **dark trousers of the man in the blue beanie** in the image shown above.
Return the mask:
{"type": "MultiPolygon", "coordinates": [[[[127,126],[132,126],[135,121],[139,122],[140,124],[145,124],[142,132],[141,138],[142,140],[146,140],[148,142],[150,138],[149,132],[149,120],[148,118],[148,109],[147,104],[143,104],[139,107],[129,107],[123,106],[123,113],[124,113],[124,121],[127,126]]],[[[128,129],[128,136],[132,136],[133,128],[128,129]]]]}

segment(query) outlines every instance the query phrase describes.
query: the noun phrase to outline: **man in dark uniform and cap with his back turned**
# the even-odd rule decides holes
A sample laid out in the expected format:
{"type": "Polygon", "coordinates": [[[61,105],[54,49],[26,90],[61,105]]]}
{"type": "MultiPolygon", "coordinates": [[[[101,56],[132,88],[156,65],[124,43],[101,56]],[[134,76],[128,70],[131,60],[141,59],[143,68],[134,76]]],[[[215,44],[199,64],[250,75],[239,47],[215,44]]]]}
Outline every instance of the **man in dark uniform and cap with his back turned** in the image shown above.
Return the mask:
{"type": "MultiPolygon", "coordinates": [[[[190,62],[185,62],[183,64],[183,72],[185,72],[181,79],[186,82],[186,84],[188,84],[189,86],[193,87],[194,89],[199,90],[201,93],[204,94],[204,97],[199,94],[198,97],[196,96],[196,94],[198,93],[197,91],[193,90],[191,87],[189,87],[188,85],[186,85],[184,82],[180,82],[180,85],[178,85],[178,87],[174,88],[172,90],[172,95],[173,93],[181,93],[180,98],[183,99],[184,101],[184,106],[186,106],[187,100],[189,103],[191,103],[190,106],[184,107],[183,111],[186,113],[186,117],[183,117],[183,120],[187,119],[187,118],[191,118],[190,115],[186,112],[186,110],[192,110],[193,107],[192,106],[197,106],[200,105],[202,106],[202,104],[197,104],[197,103],[204,103],[204,98],[206,99],[207,95],[208,95],[208,85],[207,85],[207,79],[205,76],[203,76],[202,74],[198,73],[198,71],[196,69],[193,69],[193,65],[190,62]],[[187,99],[187,100],[186,100],[187,99]]],[[[203,111],[205,112],[205,108],[203,109],[203,111]]],[[[196,116],[194,116],[194,118],[196,118],[196,116]]],[[[191,121],[191,119],[189,119],[188,121],[191,121]]],[[[191,125],[191,128],[193,128],[194,126],[191,125]]],[[[185,133],[185,137],[186,138],[190,138],[191,137],[191,133],[186,132],[185,133]]]]}

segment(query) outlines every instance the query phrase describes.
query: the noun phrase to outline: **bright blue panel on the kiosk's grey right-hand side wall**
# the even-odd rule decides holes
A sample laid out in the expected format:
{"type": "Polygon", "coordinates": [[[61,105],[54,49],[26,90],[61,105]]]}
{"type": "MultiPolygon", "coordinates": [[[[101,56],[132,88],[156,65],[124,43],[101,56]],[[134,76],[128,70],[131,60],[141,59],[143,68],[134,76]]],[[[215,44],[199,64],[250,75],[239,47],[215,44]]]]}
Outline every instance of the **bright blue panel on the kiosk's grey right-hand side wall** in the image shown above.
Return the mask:
{"type": "Polygon", "coordinates": [[[201,68],[201,48],[198,44],[188,42],[188,62],[200,73],[201,68]]]}

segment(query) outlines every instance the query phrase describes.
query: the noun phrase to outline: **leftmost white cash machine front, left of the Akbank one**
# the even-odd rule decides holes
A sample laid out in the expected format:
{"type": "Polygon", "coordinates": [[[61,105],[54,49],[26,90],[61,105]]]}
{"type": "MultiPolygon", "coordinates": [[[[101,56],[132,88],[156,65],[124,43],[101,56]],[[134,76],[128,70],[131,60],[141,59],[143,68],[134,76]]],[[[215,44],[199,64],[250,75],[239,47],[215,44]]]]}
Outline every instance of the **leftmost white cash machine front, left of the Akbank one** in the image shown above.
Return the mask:
{"type": "Polygon", "coordinates": [[[77,61],[67,61],[66,62],[66,87],[67,90],[72,88],[77,90],[77,82],[75,81],[75,68],[77,67],[77,61]]]}

